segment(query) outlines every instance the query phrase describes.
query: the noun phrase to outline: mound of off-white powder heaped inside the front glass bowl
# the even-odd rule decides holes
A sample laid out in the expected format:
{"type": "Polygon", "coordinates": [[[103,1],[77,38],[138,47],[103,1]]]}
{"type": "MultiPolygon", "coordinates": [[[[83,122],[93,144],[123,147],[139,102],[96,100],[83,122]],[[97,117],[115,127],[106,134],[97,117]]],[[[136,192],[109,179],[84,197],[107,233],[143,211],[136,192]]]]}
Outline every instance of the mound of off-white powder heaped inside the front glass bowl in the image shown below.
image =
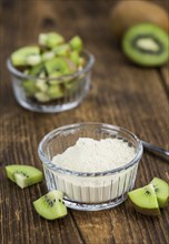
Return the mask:
{"type": "Polygon", "coordinates": [[[100,172],[122,166],[133,155],[135,149],[122,140],[80,138],[73,146],[53,156],[52,163],[71,171],[100,172]]]}

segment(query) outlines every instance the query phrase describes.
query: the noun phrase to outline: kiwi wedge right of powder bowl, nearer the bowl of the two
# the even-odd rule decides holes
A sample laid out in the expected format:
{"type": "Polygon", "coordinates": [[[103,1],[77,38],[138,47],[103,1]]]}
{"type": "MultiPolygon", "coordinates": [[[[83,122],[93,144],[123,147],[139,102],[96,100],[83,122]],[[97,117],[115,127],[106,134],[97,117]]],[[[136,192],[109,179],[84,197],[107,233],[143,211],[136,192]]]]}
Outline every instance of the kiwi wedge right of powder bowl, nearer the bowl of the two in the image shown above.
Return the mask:
{"type": "Polygon", "coordinates": [[[129,200],[136,211],[146,215],[159,215],[160,210],[152,184],[133,190],[128,193],[129,200]]]}

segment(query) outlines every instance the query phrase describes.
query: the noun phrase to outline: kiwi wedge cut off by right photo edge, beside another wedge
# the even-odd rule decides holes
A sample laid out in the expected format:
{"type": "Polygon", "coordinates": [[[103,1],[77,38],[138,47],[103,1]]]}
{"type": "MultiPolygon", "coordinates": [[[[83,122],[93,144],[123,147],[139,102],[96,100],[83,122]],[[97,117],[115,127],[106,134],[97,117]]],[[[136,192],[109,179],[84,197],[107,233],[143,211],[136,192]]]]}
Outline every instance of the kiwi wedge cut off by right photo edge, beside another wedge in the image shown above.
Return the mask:
{"type": "Polygon", "coordinates": [[[167,206],[169,202],[169,184],[159,177],[153,177],[153,180],[150,183],[155,187],[155,193],[157,196],[159,207],[167,206]]]}

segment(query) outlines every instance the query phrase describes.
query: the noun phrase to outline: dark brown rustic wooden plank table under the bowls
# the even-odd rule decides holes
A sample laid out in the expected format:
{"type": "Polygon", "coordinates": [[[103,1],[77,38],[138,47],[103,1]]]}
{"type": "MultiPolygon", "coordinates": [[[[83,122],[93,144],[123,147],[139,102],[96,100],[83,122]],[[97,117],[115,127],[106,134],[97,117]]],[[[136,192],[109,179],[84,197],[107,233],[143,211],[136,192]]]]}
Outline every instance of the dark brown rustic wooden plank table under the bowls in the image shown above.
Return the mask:
{"type": "MultiPolygon", "coordinates": [[[[143,69],[131,64],[112,41],[107,21],[113,0],[2,0],[0,70],[0,243],[1,244],[165,244],[169,240],[169,211],[149,217],[136,213],[128,201],[100,212],[69,210],[64,218],[41,218],[32,201],[47,193],[44,181],[21,190],[4,173],[7,164],[42,169],[37,148],[42,136],[60,125],[98,121],[117,124],[142,140],[169,149],[169,73],[167,65],[143,69]],[[77,109],[38,114],[20,108],[12,93],[6,59],[38,33],[56,30],[67,39],[79,34],[95,54],[92,88],[77,109]]],[[[168,7],[167,0],[159,4],[168,7]]],[[[116,24],[116,23],[115,23],[116,24]]],[[[145,152],[136,187],[153,176],[169,179],[168,163],[145,152]]]]}

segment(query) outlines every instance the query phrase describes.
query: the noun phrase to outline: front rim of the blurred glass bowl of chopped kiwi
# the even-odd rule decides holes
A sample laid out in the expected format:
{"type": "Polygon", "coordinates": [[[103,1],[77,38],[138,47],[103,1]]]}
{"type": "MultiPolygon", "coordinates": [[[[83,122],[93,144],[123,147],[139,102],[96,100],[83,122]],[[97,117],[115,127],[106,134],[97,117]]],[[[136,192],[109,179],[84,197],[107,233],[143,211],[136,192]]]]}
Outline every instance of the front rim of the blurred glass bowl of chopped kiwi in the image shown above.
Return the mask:
{"type": "Polygon", "coordinates": [[[79,77],[79,75],[81,75],[81,74],[84,74],[84,73],[87,73],[91,68],[92,68],[92,65],[93,65],[93,63],[95,63],[95,55],[91,53],[91,52],[89,52],[87,49],[84,49],[83,51],[82,51],[82,53],[83,54],[86,54],[87,57],[88,57],[88,59],[89,59],[89,61],[87,62],[87,64],[84,65],[84,68],[82,69],[82,70],[78,70],[78,71],[76,71],[74,73],[71,73],[71,74],[64,74],[64,75],[60,75],[60,77],[56,77],[56,78],[38,78],[38,77],[33,77],[33,75],[27,75],[27,74],[24,74],[23,72],[21,72],[21,71],[19,71],[19,70],[17,70],[13,65],[12,65],[12,62],[11,62],[11,59],[10,58],[8,58],[7,59],[7,68],[8,68],[8,70],[13,74],[13,75],[16,75],[16,77],[18,77],[18,78],[21,78],[21,79],[34,79],[34,80],[48,80],[48,81],[52,81],[52,80],[60,80],[60,81],[64,81],[64,79],[74,79],[74,78],[77,78],[77,77],[79,77]]]}

